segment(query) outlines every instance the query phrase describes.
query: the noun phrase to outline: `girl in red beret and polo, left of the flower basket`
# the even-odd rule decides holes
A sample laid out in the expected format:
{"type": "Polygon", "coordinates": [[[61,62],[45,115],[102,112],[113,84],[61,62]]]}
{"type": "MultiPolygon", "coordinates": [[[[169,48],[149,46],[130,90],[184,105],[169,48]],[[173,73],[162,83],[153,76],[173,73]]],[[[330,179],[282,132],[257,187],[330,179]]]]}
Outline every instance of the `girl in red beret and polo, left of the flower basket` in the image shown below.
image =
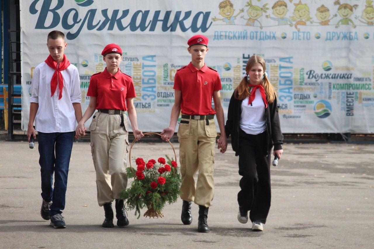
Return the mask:
{"type": "Polygon", "coordinates": [[[125,111],[131,122],[132,132],[138,141],[144,135],[138,129],[137,113],[133,98],[136,97],[134,83],[118,68],[122,61],[122,49],[117,44],[108,44],[102,50],[106,67],[103,72],[93,74],[87,91],[90,102],[76,133],[85,135],[85,122],[95,110],[92,118],[91,152],[96,170],[97,200],[104,206],[105,220],[102,227],[114,227],[112,202],[116,200],[117,226],[129,224],[124,203],[120,199],[127,187],[126,157],[128,152],[129,125],[125,111]]]}

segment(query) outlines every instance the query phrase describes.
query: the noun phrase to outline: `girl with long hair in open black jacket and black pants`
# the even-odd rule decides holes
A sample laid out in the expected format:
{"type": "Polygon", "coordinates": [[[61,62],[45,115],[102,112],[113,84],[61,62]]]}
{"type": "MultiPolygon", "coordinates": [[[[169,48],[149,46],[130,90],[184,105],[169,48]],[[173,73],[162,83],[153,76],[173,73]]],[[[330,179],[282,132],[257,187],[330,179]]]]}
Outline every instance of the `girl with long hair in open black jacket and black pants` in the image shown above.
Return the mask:
{"type": "Polygon", "coordinates": [[[281,158],[283,135],[279,123],[276,92],[267,78],[261,56],[249,58],[245,77],[230,99],[226,136],[231,134],[235,156],[239,156],[240,191],[237,194],[240,223],[252,222],[252,230],[263,231],[270,209],[270,152],[281,158]]]}

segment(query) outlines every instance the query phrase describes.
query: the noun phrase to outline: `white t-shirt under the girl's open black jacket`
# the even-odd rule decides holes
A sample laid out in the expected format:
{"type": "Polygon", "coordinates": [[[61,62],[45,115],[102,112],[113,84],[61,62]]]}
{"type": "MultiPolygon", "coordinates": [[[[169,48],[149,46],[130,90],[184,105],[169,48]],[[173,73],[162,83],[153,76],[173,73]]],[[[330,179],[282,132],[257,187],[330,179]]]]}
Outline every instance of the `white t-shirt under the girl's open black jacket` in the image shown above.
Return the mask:
{"type": "Polygon", "coordinates": [[[257,135],[266,130],[265,104],[260,89],[256,90],[252,105],[248,105],[248,100],[249,97],[243,99],[239,126],[245,133],[257,135]]]}

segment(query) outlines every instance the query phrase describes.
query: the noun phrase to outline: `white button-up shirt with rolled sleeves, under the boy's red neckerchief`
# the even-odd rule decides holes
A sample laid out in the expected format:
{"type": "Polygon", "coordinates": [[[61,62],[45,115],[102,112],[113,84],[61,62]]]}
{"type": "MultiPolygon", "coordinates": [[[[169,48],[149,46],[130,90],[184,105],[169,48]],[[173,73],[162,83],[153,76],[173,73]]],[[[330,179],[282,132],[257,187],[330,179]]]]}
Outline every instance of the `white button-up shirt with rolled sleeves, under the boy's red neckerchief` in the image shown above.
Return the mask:
{"type": "Polygon", "coordinates": [[[81,102],[78,69],[70,64],[67,69],[60,71],[64,78],[61,99],[58,99],[58,86],[53,96],[50,96],[50,80],[54,73],[55,70],[45,62],[40,63],[33,71],[30,103],[39,104],[35,130],[45,133],[72,132],[76,128],[73,103],[81,102]]]}

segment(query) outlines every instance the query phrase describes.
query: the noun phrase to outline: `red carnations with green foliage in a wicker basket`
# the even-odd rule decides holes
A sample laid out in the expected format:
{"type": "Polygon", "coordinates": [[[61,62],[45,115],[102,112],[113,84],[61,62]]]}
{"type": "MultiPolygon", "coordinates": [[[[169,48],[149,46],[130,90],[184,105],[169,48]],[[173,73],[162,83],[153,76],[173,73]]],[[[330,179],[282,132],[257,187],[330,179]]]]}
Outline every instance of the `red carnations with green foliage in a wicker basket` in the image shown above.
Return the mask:
{"type": "Polygon", "coordinates": [[[126,201],[130,210],[135,209],[135,215],[140,217],[140,209],[147,207],[144,216],[162,217],[162,209],[166,202],[175,203],[180,194],[182,179],[178,173],[177,162],[165,155],[157,162],[154,159],[146,163],[142,158],[133,157],[137,169],[126,168],[128,177],[133,177],[131,186],[122,192],[122,199],[126,201]]]}

